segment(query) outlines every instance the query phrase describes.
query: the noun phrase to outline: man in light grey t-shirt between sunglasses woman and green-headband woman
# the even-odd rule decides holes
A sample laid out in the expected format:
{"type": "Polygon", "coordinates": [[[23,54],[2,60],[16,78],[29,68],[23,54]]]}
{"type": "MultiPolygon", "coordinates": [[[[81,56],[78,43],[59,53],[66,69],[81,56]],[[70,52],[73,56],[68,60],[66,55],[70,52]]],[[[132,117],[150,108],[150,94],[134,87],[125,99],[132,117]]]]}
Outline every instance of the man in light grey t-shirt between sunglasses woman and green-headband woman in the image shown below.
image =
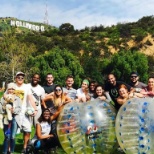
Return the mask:
{"type": "Polygon", "coordinates": [[[63,87],[63,92],[70,97],[72,100],[76,98],[76,89],[73,88],[74,77],[72,75],[68,75],[65,80],[66,87],[63,87]]]}

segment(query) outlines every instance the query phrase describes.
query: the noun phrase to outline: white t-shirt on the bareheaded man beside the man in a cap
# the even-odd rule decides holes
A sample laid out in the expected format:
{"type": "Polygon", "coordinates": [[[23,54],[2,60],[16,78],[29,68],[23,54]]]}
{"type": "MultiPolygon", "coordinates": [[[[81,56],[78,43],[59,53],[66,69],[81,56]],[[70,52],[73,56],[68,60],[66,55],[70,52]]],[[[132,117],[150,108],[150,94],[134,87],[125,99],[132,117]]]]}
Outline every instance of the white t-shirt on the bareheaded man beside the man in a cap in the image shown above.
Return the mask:
{"type": "Polygon", "coordinates": [[[44,99],[45,97],[45,90],[39,84],[36,87],[33,87],[31,83],[28,83],[27,85],[33,95],[34,101],[36,102],[37,109],[41,109],[41,99],[44,99]]]}

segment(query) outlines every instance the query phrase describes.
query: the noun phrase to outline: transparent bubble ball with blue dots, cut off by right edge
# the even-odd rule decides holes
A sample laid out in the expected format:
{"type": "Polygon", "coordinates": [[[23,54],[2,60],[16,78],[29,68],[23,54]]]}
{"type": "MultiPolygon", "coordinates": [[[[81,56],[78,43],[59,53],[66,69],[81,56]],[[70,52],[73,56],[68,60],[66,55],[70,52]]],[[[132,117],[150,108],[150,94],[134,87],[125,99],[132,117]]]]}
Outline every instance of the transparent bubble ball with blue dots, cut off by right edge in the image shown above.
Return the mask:
{"type": "Polygon", "coordinates": [[[153,154],[154,99],[128,100],[118,112],[116,136],[126,154],[153,154]]]}

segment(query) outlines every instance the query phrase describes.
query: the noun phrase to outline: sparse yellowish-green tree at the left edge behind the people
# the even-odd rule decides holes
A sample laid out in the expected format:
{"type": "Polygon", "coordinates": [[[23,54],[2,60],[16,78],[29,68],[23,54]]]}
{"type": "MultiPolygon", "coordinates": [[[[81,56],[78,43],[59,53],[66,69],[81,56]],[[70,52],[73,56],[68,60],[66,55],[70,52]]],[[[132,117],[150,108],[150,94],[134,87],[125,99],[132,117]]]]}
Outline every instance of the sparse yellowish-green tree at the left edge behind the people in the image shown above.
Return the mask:
{"type": "Polygon", "coordinates": [[[14,81],[17,71],[28,72],[28,57],[35,52],[34,45],[27,45],[20,42],[14,33],[4,33],[0,41],[0,79],[6,82],[14,81]]]}

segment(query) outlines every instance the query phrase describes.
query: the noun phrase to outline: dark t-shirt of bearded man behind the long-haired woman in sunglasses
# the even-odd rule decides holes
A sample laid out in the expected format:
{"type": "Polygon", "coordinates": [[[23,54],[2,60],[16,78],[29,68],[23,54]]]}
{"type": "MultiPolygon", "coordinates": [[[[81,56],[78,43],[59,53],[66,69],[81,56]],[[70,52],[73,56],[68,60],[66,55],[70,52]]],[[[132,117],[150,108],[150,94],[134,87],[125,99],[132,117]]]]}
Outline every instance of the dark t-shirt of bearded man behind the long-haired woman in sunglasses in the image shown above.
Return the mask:
{"type": "MultiPolygon", "coordinates": [[[[52,85],[44,85],[43,88],[45,90],[45,93],[46,94],[49,94],[49,93],[53,92],[55,86],[56,86],[55,84],[52,84],[52,85]]],[[[46,106],[47,106],[47,108],[51,108],[54,105],[53,105],[53,102],[52,101],[46,101],[46,106]]]]}

